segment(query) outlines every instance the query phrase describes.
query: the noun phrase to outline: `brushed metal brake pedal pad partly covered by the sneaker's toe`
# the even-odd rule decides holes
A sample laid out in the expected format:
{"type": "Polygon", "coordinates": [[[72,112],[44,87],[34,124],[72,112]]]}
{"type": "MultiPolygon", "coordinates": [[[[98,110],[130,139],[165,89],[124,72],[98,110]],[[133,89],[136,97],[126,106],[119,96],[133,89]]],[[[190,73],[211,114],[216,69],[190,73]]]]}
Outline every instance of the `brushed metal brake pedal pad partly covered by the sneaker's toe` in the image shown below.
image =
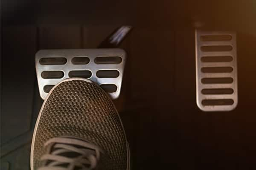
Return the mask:
{"type": "Polygon", "coordinates": [[[40,96],[63,79],[83,77],[103,88],[112,99],[119,97],[126,53],[119,48],[40,50],[35,67],[40,96]]]}

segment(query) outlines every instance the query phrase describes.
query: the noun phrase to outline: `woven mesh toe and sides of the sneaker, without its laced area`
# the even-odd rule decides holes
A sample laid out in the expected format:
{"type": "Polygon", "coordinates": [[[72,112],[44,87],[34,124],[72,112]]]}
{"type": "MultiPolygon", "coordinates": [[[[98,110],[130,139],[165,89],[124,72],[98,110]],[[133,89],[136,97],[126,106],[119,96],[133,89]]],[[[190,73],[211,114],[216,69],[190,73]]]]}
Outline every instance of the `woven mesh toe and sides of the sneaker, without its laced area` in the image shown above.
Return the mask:
{"type": "Polygon", "coordinates": [[[111,169],[127,168],[128,146],[122,122],[111,99],[99,86],[84,80],[63,81],[42,106],[32,143],[32,167],[41,166],[44,143],[58,136],[86,139],[111,159],[111,169]]]}

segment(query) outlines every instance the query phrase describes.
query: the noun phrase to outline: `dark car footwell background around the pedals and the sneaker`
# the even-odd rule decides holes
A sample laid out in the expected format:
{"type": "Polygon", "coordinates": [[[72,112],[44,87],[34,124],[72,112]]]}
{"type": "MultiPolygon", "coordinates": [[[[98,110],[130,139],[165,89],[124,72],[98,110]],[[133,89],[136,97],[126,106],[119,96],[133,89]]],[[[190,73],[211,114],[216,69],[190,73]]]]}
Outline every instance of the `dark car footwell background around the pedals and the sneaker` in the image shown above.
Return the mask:
{"type": "Polygon", "coordinates": [[[256,169],[255,0],[0,3],[1,170],[30,169],[43,103],[36,52],[98,48],[120,26],[132,30],[117,46],[127,60],[113,102],[130,144],[132,169],[256,169]],[[237,105],[229,111],[197,105],[196,30],[236,34],[237,105]]]}

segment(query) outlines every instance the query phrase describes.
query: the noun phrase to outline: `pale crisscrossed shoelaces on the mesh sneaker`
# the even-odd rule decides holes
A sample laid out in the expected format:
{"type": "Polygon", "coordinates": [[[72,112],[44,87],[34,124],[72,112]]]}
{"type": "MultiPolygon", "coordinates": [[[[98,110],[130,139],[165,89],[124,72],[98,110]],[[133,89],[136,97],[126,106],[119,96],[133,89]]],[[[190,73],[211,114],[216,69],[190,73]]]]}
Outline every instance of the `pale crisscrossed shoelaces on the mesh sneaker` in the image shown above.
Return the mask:
{"type": "Polygon", "coordinates": [[[44,144],[44,147],[53,150],[41,157],[41,161],[50,161],[38,170],[92,170],[99,161],[103,151],[94,144],[69,137],[52,138],[44,144]],[[82,148],[79,148],[79,147],[82,148]],[[78,156],[63,156],[65,153],[76,153],[78,156]],[[68,164],[67,166],[61,166],[68,164]]]}

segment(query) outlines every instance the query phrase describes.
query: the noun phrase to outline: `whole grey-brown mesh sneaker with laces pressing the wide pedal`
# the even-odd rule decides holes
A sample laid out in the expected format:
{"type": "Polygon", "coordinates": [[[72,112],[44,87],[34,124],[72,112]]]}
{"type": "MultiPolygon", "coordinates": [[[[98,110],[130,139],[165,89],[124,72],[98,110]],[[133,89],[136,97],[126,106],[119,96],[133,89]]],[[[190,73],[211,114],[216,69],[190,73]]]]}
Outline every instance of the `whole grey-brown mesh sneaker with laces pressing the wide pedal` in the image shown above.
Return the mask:
{"type": "Polygon", "coordinates": [[[129,145],[108,94],[83,78],[55,85],[38,115],[30,166],[31,170],[129,170],[129,145]]]}

